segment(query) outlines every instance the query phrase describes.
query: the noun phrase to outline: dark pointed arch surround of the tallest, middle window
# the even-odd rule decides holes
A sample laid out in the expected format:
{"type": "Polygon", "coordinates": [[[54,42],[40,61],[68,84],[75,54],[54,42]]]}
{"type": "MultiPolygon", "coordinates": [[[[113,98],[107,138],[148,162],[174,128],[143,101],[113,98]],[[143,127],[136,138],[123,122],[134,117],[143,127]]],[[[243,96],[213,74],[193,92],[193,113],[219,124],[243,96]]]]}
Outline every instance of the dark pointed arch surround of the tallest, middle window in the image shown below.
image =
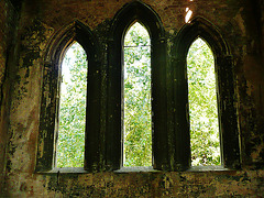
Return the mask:
{"type": "Polygon", "coordinates": [[[106,164],[109,169],[118,169],[122,163],[122,45],[127,30],[133,22],[140,22],[151,37],[152,67],[152,122],[153,129],[153,166],[165,167],[167,164],[166,143],[166,43],[162,21],[148,6],[133,1],[125,4],[114,16],[109,37],[109,84],[108,120],[106,140],[106,164]]]}

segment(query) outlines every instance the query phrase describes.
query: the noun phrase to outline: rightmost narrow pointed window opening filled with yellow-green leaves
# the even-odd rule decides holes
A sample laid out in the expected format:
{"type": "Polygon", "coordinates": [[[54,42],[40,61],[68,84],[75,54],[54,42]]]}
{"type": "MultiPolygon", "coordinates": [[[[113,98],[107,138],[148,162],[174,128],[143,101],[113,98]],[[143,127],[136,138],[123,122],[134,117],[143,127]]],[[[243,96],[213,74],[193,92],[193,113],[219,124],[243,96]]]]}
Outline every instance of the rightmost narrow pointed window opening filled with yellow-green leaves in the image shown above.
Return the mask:
{"type": "Polygon", "coordinates": [[[197,38],[187,55],[191,165],[221,165],[215,59],[197,38]]]}

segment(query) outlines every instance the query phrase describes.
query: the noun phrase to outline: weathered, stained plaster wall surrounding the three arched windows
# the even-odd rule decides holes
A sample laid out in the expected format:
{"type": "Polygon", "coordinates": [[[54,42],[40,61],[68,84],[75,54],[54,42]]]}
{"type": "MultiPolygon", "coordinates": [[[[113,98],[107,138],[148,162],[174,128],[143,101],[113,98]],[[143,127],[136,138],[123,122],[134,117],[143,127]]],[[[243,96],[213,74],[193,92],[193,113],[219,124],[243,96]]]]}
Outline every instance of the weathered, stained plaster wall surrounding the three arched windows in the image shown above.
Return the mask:
{"type": "MultiPolygon", "coordinates": [[[[260,24],[254,21],[254,7],[250,0],[143,1],[161,16],[166,31],[168,53],[173,38],[185,24],[186,8],[193,10],[193,16],[204,16],[212,22],[229,43],[234,56],[242,170],[44,175],[34,173],[43,65],[53,36],[78,19],[98,36],[98,45],[103,51],[100,58],[103,59],[107,57],[111,20],[127,2],[130,0],[24,0],[19,23],[18,63],[14,69],[11,69],[15,75],[10,99],[10,142],[2,195],[10,197],[263,196],[264,68],[260,52],[263,32],[260,24]]],[[[261,8],[260,13],[263,12],[263,3],[261,8]]],[[[1,22],[2,24],[7,22],[1,22]]],[[[1,53],[0,57],[3,54],[1,53]]],[[[12,67],[12,65],[8,66],[12,67]]],[[[107,74],[107,65],[101,66],[101,74],[107,74]]],[[[4,117],[1,116],[2,118],[4,117]]],[[[1,134],[1,140],[2,136],[4,138],[4,134],[1,134]]]]}

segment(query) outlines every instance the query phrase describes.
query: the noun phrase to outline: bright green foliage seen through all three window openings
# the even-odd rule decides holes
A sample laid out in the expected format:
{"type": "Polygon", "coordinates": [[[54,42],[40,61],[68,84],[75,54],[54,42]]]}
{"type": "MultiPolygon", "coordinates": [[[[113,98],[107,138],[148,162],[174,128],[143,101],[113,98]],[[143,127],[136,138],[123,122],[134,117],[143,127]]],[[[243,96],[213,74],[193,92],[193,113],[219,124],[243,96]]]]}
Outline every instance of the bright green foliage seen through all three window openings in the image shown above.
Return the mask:
{"type": "MultiPolygon", "coordinates": [[[[146,30],[139,23],[124,40],[123,166],[152,165],[151,47],[146,30]]],[[[200,38],[187,57],[191,163],[220,165],[213,56],[200,38]]],[[[74,44],[63,63],[61,85],[58,167],[84,166],[87,58],[74,44]]]]}

